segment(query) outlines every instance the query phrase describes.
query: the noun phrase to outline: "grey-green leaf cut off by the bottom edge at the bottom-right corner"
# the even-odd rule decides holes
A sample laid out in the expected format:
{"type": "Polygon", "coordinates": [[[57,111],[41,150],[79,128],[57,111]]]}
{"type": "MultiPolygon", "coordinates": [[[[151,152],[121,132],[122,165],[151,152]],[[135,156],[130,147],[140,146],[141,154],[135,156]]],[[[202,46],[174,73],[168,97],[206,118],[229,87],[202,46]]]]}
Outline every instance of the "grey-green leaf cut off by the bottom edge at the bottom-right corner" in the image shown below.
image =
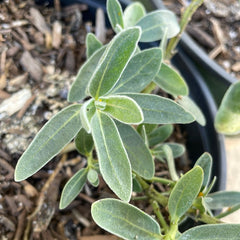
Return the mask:
{"type": "Polygon", "coordinates": [[[191,228],[178,240],[238,240],[240,224],[208,224],[191,228]]]}

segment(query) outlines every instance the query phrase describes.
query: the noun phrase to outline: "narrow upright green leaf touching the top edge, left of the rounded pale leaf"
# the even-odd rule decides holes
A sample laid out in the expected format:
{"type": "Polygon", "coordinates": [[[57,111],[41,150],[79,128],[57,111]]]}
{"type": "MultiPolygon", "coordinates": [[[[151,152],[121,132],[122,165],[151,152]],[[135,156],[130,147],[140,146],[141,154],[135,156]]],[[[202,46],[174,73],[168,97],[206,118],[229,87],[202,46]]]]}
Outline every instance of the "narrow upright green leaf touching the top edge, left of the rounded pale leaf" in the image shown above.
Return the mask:
{"type": "Polygon", "coordinates": [[[124,28],[122,7],[118,0],[107,0],[107,13],[115,32],[118,32],[117,25],[124,28]]]}

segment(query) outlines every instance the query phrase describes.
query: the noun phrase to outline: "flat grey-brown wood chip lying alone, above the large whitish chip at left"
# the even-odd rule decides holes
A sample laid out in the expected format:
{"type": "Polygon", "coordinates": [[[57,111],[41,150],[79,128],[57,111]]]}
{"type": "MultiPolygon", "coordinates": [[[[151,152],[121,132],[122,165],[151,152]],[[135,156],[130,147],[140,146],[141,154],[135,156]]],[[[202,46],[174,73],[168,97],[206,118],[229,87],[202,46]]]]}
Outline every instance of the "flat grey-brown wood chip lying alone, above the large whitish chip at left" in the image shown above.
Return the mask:
{"type": "Polygon", "coordinates": [[[32,57],[30,52],[25,51],[22,54],[20,64],[26,70],[26,72],[29,72],[29,74],[35,81],[41,81],[43,74],[42,65],[38,60],[32,57]]]}

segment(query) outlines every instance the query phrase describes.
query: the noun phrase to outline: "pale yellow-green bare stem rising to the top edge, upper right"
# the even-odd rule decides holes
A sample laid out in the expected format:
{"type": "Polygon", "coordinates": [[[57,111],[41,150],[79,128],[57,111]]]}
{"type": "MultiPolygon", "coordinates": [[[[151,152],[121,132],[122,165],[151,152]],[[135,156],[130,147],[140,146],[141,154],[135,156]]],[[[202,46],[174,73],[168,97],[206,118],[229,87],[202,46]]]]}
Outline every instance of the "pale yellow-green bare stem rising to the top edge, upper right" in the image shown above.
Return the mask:
{"type": "Polygon", "coordinates": [[[191,20],[192,15],[202,5],[203,1],[204,0],[193,0],[189,4],[189,6],[186,8],[186,10],[184,11],[184,13],[181,17],[181,20],[180,20],[180,32],[178,33],[178,35],[176,37],[172,38],[168,43],[166,55],[165,55],[165,58],[167,60],[172,58],[172,56],[174,54],[174,49],[176,48],[178,42],[180,41],[182,33],[184,32],[189,21],[191,20]]]}

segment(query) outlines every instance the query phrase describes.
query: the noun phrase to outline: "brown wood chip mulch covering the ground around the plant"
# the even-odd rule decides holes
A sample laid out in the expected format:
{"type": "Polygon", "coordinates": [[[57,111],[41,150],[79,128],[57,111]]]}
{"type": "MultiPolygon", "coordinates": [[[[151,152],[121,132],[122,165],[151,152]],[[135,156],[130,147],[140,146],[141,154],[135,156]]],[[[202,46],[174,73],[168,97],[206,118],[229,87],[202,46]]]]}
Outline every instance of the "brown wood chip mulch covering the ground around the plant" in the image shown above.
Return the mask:
{"type": "MultiPolygon", "coordinates": [[[[180,10],[182,5],[177,6],[180,10]]],[[[26,181],[13,180],[16,162],[33,137],[47,120],[68,105],[68,90],[86,59],[86,33],[95,32],[104,42],[112,31],[105,29],[101,10],[97,12],[96,24],[83,22],[87,6],[82,4],[63,8],[55,0],[54,8],[48,8],[36,6],[31,0],[6,0],[0,2],[0,9],[0,240],[116,239],[105,235],[90,215],[92,202],[115,197],[102,179],[98,188],[86,184],[69,207],[58,209],[62,188],[85,166],[84,156],[75,151],[60,154],[26,181]]],[[[214,43],[219,43],[211,34],[209,23],[222,24],[223,17],[207,12],[211,14],[209,20],[203,15],[206,10],[203,6],[195,14],[190,28],[202,28],[214,43]]],[[[237,24],[231,23],[226,25],[234,30],[234,36],[235,32],[239,36],[237,24]]],[[[226,28],[222,28],[224,36],[231,30],[226,28]]],[[[228,39],[220,42],[227,51],[216,56],[216,59],[223,56],[219,62],[230,62],[229,71],[233,71],[232,63],[239,60],[237,36],[232,43],[228,39]]],[[[206,50],[213,50],[217,44],[211,46],[205,46],[206,50]]],[[[233,72],[238,76],[238,71],[233,72]]],[[[177,142],[183,142],[182,134],[178,133],[177,142]]],[[[169,177],[165,165],[157,164],[157,175],[169,177]]],[[[163,188],[159,184],[156,187],[163,188]]],[[[137,205],[152,213],[145,204],[137,205]]]]}

